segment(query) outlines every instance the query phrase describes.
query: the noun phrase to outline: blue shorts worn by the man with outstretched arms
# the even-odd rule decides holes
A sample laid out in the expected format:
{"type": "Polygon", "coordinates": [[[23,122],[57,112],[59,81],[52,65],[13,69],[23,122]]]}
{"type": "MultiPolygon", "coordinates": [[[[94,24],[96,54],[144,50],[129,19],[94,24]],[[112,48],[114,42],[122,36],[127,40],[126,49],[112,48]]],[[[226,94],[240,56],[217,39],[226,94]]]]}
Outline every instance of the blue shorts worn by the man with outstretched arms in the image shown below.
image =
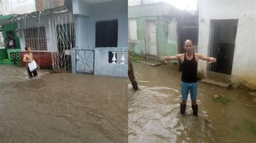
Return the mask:
{"type": "Polygon", "coordinates": [[[181,95],[182,101],[187,101],[188,92],[190,92],[191,101],[197,100],[198,82],[185,83],[181,81],[181,95]]]}

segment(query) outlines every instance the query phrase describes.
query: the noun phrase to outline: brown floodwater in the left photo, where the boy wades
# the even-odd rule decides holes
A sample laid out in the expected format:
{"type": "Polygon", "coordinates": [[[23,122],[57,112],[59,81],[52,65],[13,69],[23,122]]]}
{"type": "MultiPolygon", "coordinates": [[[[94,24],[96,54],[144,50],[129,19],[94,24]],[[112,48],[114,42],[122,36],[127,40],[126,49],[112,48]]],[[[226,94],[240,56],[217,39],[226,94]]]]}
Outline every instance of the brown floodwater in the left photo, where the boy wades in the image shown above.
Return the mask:
{"type": "Polygon", "coordinates": [[[0,66],[0,142],[127,142],[127,79],[0,66]]]}

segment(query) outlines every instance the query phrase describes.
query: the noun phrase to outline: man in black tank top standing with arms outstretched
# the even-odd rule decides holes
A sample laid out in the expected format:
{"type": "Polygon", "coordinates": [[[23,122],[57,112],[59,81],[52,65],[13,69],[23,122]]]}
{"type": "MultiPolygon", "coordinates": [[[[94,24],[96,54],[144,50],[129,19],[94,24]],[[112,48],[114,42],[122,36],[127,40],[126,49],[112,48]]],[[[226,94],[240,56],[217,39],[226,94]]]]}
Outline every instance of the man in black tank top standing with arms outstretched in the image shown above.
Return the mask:
{"type": "Polygon", "coordinates": [[[191,40],[185,41],[185,53],[177,54],[174,56],[161,56],[161,60],[165,63],[169,60],[180,60],[181,61],[181,95],[182,101],[180,103],[180,113],[184,114],[186,111],[186,102],[188,92],[190,92],[192,101],[193,115],[197,116],[198,105],[197,105],[197,91],[198,91],[198,77],[197,67],[198,60],[210,61],[208,63],[216,62],[215,58],[194,53],[194,46],[191,40]]]}

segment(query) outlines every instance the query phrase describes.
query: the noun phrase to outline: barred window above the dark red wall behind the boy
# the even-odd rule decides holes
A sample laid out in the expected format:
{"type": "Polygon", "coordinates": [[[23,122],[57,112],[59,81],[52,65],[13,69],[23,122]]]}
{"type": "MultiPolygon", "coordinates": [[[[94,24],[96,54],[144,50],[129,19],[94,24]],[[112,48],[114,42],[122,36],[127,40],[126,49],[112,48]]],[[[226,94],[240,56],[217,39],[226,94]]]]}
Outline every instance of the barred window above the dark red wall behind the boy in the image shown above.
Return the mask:
{"type": "Polygon", "coordinates": [[[33,51],[47,51],[45,27],[26,28],[24,31],[26,46],[33,51]]]}

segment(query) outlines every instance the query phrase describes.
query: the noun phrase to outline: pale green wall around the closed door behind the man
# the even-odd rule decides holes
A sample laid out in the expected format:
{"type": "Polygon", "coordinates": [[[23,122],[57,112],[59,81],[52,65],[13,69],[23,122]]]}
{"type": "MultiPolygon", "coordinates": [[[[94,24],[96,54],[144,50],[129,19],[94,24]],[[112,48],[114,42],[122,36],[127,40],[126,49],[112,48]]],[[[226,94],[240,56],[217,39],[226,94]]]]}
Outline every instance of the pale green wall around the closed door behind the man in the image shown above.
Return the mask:
{"type": "Polygon", "coordinates": [[[132,42],[129,41],[130,53],[139,55],[146,54],[146,22],[147,20],[156,20],[157,57],[160,58],[160,56],[172,56],[178,54],[176,21],[172,21],[170,27],[168,27],[168,21],[163,17],[140,17],[135,19],[137,20],[137,40],[132,42]],[[168,36],[168,29],[171,30],[171,33],[169,33],[171,36],[168,36]]]}

